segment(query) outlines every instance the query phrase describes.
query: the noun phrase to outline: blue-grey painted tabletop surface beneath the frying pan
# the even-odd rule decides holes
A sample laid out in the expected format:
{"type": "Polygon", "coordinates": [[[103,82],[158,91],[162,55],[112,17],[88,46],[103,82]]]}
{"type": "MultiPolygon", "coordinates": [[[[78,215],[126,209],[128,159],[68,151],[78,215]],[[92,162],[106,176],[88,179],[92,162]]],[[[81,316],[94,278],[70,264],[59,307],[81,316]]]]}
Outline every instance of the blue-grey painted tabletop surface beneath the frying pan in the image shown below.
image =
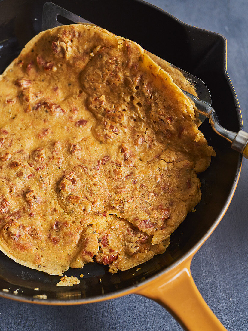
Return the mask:
{"type": "MultiPolygon", "coordinates": [[[[116,0],[118,1],[118,0],[116,0]]],[[[150,0],[181,21],[227,37],[227,70],[248,130],[248,1],[150,0]]],[[[228,330],[248,330],[247,168],[223,220],[195,255],[191,271],[228,330]]],[[[0,330],[182,330],[157,303],[137,295],[82,306],[37,306],[0,298],[0,330]]],[[[201,330],[199,326],[199,330],[201,330]]]]}

